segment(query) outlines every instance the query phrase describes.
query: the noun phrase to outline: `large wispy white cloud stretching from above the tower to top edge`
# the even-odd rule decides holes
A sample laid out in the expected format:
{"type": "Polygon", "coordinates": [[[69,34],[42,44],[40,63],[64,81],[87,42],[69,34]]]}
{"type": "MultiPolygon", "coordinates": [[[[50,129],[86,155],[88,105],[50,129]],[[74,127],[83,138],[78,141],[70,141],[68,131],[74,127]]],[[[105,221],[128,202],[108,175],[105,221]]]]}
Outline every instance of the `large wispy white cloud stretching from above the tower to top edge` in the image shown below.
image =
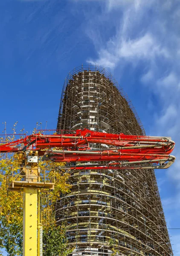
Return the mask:
{"type": "MultiPolygon", "coordinates": [[[[107,0],[106,3],[108,3],[106,12],[103,12],[102,16],[98,15],[98,20],[95,18],[94,23],[91,21],[89,31],[93,32],[87,33],[99,57],[96,60],[88,59],[87,62],[106,64],[107,68],[113,70],[118,64],[123,65],[125,61],[136,65],[140,60],[153,62],[155,58],[171,57],[168,48],[154,35],[154,30],[144,29],[142,26],[146,19],[145,12],[149,11],[154,0],[148,1],[148,4],[147,1],[142,0],[107,0]],[[119,16],[115,23],[116,33],[103,41],[103,34],[97,29],[96,24],[108,15],[110,17],[112,15],[113,19],[113,12],[117,10],[119,10],[119,16]],[[142,30],[139,30],[141,26],[142,30]],[[94,31],[95,28],[98,35],[94,31]]],[[[158,26],[161,26],[161,30],[163,29],[161,23],[158,26]]]]}

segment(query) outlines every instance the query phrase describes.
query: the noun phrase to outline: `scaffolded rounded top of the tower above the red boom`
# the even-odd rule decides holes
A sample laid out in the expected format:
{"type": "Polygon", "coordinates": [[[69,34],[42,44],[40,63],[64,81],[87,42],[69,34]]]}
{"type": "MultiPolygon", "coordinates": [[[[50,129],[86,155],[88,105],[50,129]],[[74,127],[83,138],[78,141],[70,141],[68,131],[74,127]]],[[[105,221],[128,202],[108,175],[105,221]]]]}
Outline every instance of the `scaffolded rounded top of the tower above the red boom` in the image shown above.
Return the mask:
{"type": "Polygon", "coordinates": [[[145,135],[134,106],[104,68],[80,66],[65,79],[57,129],[145,135]],[[125,132],[126,131],[126,132],[125,132]]]}

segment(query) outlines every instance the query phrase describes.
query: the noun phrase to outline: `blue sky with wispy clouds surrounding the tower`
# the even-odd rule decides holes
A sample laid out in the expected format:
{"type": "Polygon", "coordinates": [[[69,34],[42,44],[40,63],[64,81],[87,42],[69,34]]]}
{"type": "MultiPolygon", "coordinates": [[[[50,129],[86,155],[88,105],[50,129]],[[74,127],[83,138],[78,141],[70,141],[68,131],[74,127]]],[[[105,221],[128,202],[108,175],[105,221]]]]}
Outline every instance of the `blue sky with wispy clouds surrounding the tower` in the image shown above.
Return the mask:
{"type": "MultiPolygon", "coordinates": [[[[168,228],[180,228],[179,0],[1,0],[0,17],[0,130],[56,128],[67,73],[105,67],[146,134],[176,142],[176,163],[156,175],[168,228]]],[[[180,256],[180,230],[169,233],[180,256]]]]}

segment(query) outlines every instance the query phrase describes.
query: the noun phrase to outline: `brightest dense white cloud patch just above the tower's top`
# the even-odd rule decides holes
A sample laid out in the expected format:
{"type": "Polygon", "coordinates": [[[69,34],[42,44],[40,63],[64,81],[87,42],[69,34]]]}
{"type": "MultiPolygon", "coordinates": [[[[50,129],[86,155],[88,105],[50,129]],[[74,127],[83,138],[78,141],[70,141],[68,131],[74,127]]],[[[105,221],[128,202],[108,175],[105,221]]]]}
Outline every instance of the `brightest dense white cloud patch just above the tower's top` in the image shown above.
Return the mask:
{"type": "Polygon", "coordinates": [[[151,61],[157,55],[165,55],[165,51],[149,33],[136,39],[126,39],[120,32],[116,38],[107,42],[106,49],[99,50],[98,55],[96,61],[90,59],[87,62],[114,69],[119,62],[129,61],[136,64],[139,60],[151,61]]]}

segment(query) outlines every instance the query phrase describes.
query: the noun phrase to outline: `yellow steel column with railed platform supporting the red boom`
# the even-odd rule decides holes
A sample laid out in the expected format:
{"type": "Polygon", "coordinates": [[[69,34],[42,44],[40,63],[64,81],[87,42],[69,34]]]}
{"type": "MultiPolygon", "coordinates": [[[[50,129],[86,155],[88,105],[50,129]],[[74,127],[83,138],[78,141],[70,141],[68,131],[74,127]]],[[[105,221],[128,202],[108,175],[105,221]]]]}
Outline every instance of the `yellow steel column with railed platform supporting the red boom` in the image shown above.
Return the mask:
{"type": "Polygon", "coordinates": [[[53,177],[41,172],[38,151],[18,152],[18,162],[20,173],[12,170],[8,190],[23,191],[23,256],[42,256],[41,189],[54,189],[55,172],[53,177]]]}

